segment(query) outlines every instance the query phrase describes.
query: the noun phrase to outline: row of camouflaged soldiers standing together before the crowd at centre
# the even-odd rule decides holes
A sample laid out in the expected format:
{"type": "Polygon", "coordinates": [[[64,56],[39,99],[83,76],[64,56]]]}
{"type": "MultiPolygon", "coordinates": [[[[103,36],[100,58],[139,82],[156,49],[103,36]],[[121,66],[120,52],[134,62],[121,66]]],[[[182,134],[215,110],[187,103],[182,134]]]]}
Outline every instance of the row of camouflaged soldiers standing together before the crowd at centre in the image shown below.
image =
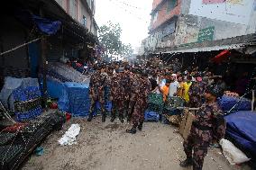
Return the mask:
{"type": "Polygon", "coordinates": [[[102,121],[105,122],[106,87],[110,88],[108,99],[112,102],[111,122],[115,120],[118,113],[118,118],[122,123],[125,117],[127,121],[133,121],[133,128],[126,130],[127,132],[134,134],[137,128],[142,130],[148,94],[151,93],[151,82],[147,73],[140,69],[130,71],[130,67],[114,69],[99,65],[90,79],[91,106],[87,121],[92,121],[96,102],[99,102],[102,121]]]}

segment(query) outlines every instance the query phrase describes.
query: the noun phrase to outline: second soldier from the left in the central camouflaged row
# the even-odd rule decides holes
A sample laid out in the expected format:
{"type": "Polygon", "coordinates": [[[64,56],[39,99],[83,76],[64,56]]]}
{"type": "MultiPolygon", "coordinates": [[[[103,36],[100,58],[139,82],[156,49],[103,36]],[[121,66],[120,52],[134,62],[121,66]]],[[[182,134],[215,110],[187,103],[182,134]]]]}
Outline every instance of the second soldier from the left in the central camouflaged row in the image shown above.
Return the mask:
{"type": "Polygon", "coordinates": [[[119,120],[123,123],[123,112],[124,112],[124,101],[125,101],[125,79],[124,79],[124,68],[119,67],[116,69],[116,75],[113,76],[111,81],[111,100],[112,100],[112,111],[111,111],[111,122],[116,118],[115,114],[118,112],[119,120]]]}

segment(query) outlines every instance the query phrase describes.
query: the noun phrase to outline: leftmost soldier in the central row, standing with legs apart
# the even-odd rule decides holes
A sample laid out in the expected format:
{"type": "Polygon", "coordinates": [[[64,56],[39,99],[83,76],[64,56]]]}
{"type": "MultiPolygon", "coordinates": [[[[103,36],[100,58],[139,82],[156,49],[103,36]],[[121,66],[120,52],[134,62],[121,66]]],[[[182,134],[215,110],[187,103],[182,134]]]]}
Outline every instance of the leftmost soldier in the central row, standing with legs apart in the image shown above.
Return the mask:
{"type": "Polygon", "coordinates": [[[90,100],[91,100],[91,106],[89,110],[89,117],[87,121],[92,121],[93,119],[93,112],[96,108],[96,102],[99,102],[100,104],[100,110],[102,113],[102,122],[105,122],[105,67],[102,67],[101,65],[97,66],[96,73],[93,74],[90,78],[90,100]]]}

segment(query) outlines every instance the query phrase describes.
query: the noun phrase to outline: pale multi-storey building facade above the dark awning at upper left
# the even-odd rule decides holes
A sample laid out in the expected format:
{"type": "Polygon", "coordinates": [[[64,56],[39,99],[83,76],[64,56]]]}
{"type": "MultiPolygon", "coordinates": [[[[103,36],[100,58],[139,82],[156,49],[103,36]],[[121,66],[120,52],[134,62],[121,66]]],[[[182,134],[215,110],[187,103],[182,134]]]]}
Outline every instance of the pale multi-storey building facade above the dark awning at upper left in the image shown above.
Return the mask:
{"type": "Polygon", "coordinates": [[[98,26],[95,21],[96,0],[56,0],[69,15],[87,27],[89,32],[97,35],[98,26]]]}

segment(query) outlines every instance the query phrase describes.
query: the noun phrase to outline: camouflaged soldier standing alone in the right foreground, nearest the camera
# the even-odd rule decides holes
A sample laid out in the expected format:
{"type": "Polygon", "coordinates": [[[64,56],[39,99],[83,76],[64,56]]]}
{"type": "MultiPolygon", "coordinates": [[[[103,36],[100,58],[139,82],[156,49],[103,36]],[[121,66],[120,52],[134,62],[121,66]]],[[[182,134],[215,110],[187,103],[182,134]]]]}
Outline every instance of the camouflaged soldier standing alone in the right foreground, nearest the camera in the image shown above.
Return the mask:
{"type": "Polygon", "coordinates": [[[190,134],[183,144],[187,159],[180,162],[180,166],[193,166],[193,170],[201,170],[210,142],[213,139],[224,138],[225,122],[223,111],[216,102],[217,97],[222,95],[223,90],[217,85],[209,86],[206,89],[206,103],[196,112],[190,134]],[[192,150],[194,150],[193,156],[192,150]]]}

